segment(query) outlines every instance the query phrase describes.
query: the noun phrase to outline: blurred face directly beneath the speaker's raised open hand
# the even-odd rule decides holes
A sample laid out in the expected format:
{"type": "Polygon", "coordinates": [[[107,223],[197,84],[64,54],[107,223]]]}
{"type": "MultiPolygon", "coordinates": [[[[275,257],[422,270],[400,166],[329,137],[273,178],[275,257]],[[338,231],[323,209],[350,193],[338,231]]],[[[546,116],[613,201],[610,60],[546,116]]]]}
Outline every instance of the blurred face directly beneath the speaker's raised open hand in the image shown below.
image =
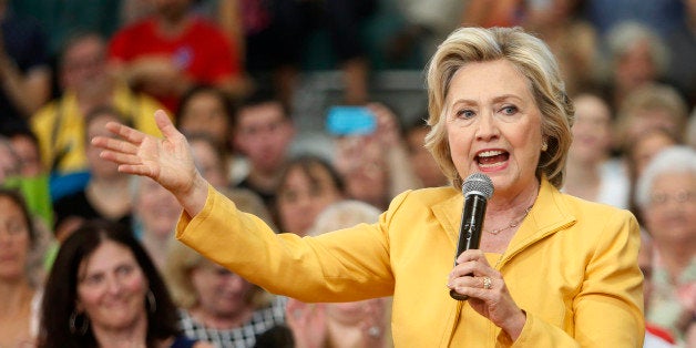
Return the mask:
{"type": "Polygon", "coordinates": [[[174,195],[149,177],[139,177],[139,191],[134,211],[145,233],[164,237],[174,233],[182,207],[174,195]]]}

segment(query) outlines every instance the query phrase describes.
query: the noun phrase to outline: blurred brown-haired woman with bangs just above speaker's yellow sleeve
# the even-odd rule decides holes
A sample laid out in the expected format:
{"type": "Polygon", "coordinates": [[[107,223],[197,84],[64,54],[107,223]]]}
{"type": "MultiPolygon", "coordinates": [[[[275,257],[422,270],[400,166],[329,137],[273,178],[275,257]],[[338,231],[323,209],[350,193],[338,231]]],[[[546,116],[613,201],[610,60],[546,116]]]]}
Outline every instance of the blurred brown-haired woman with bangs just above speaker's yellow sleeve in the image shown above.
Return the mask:
{"type": "Polygon", "coordinates": [[[314,155],[290,160],[280,175],[275,204],[280,231],[307,235],[317,215],[344,196],[342,178],[330,163],[314,155]]]}

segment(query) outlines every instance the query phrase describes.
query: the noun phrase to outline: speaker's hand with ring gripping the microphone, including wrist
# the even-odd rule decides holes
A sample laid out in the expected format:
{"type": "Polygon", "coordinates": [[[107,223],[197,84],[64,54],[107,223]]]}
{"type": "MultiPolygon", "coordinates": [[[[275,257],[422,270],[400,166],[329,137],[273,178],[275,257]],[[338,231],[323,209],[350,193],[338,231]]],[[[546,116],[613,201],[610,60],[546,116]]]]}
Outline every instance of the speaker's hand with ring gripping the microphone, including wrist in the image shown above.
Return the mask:
{"type": "Polygon", "coordinates": [[[489,318],[515,340],[522,332],[526,315],[508,291],[500,272],[491,267],[483,252],[469,249],[457,257],[447,286],[469,296],[469,305],[489,318]]]}

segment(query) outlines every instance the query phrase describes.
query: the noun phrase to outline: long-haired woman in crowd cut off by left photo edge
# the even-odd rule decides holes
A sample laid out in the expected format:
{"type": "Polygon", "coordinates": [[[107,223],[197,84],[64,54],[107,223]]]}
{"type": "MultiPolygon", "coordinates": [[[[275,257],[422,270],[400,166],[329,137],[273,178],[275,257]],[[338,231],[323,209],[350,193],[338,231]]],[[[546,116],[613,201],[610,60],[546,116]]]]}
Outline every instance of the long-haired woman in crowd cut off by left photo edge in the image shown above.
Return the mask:
{"type": "Polygon", "coordinates": [[[0,188],[0,347],[34,344],[42,286],[31,274],[37,239],[21,194],[0,188]]]}

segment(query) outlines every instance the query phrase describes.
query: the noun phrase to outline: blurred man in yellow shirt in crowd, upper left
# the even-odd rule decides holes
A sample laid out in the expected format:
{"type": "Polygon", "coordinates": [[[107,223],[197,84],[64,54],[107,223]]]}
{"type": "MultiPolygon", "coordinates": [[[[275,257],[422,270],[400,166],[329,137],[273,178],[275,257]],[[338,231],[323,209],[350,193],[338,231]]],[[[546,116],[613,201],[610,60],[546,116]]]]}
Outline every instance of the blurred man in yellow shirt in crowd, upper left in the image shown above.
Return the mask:
{"type": "Polygon", "coordinates": [[[123,122],[149,134],[161,134],[153,114],[163,106],[114,79],[106,71],[105,53],[105,42],[96,33],[73,34],[59,62],[61,96],[31,117],[44,167],[55,176],[64,175],[52,181],[54,199],[84,187],[89,178],[84,116],[90,110],[112,105],[125,116],[123,122]]]}

